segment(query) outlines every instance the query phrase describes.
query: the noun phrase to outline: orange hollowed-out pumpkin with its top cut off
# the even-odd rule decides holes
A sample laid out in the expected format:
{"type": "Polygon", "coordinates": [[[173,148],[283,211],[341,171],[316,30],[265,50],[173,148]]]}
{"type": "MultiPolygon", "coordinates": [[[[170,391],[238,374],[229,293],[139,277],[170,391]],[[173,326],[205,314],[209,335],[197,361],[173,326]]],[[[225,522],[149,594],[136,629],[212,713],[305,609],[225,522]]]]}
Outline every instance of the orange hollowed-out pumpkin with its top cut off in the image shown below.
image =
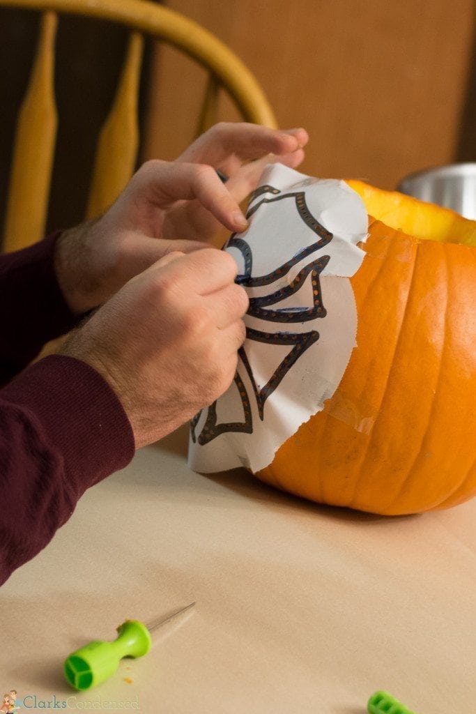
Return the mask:
{"type": "Polygon", "coordinates": [[[449,508],[476,494],[476,222],[402,194],[395,208],[395,193],[349,183],[394,226],[414,225],[421,210],[424,237],[434,223],[436,240],[370,217],[350,278],[358,346],[324,411],[257,476],[371,513],[449,508]]]}

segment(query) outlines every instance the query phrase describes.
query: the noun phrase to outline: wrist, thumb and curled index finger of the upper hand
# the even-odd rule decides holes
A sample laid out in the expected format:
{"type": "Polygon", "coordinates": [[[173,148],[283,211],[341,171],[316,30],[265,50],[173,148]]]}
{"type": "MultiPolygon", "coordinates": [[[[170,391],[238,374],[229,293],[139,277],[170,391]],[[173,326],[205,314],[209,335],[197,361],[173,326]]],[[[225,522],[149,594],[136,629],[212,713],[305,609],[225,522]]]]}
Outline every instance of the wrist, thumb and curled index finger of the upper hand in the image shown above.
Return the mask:
{"type": "Polygon", "coordinates": [[[197,201],[232,231],[247,222],[238,203],[210,166],[148,161],[97,221],[60,236],[55,268],[66,302],[76,314],[104,303],[130,278],[171,251],[207,248],[198,241],[161,238],[168,206],[197,201]]]}

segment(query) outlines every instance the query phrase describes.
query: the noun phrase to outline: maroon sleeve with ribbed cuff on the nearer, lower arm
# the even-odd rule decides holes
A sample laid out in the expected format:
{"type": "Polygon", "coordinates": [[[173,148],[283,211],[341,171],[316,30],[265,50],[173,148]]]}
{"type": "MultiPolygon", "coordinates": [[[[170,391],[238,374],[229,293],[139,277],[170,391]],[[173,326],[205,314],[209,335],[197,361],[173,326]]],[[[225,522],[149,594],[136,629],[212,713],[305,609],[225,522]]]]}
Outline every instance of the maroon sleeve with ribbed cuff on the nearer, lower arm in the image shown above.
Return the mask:
{"type": "Polygon", "coordinates": [[[133,453],[120,401],[86,363],[49,356],[1,389],[0,584],[133,453]]]}

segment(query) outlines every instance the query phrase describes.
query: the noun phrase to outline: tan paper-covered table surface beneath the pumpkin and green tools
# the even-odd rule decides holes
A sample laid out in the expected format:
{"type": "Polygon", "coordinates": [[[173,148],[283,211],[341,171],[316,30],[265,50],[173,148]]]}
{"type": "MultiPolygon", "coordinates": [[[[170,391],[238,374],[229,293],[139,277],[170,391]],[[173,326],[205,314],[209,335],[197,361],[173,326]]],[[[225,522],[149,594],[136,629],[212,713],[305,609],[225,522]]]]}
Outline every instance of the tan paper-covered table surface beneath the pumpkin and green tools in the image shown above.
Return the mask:
{"type": "Polygon", "coordinates": [[[245,471],[193,473],[186,442],[183,428],[91,488],[1,588],[0,688],[30,697],[21,711],[36,695],[36,710],[364,714],[379,689],[418,714],[476,710],[476,500],[326,508],[245,471]],[[146,657],[66,685],[72,650],[193,601],[146,657]]]}

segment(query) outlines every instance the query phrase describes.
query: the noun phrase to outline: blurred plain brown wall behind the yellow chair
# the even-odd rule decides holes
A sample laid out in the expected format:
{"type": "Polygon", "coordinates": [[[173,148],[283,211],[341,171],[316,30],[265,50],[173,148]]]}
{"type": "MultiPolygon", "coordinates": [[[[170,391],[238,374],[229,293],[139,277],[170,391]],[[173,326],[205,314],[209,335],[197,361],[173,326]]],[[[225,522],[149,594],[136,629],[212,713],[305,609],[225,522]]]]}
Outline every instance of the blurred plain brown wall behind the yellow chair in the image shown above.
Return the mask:
{"type": "MultiPolygon", "coordinates": [[[[473,0],[168,0],[254,72],[280,126],[305,126],[303,170],[385,187],[455,157],[469,74],[473,0]]],[[[158,53],[144,157],[193,136],[204,76],[158,53]]],[[[223,118],[236,119],[227,103],[223,118]]]]}

